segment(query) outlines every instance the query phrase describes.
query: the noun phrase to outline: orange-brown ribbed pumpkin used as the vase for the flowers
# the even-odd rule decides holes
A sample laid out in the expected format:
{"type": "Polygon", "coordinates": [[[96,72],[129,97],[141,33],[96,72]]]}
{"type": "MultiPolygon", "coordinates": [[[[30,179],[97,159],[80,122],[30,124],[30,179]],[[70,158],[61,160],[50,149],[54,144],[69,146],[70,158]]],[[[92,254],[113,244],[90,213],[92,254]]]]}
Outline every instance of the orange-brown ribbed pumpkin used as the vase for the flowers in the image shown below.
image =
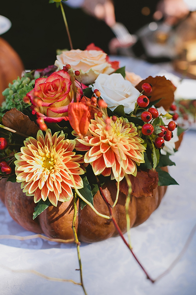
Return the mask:
{"type": "MultiPolygon", "coordinates": [[[[112,205],[116,198],[116,181],[108,181],[103,185],[102,189],[105,197],[112,205]]],[[[131,227],[147,220],[150,214],[159,206],[166,189],[165,186],[156,187],[153,190],[152,197],[136,198],[132,196],[129,205],[131,227]]],[[[33,197],[27,197],[22,192],[20,183],[6,182],[5,179],[2,179],[0,181],[0,192],[0,199],[4,202],[11,217],[26,230],[44,233],[52,238],[74,241],[72,230],[73,198],[68,202],[58,202],[57,207],[49,206],[33,220],[32,215],[35,207],[33,197]]],[[[125,200],[126,196],[123,192],[120,192],[118,203],[113,209],[114,217],[123,233],[126,232],[125,200]]],[[[108,208],[99,191],[94,196],[94,206],[100,213],[109,215],[108,208]]],[[[76,230],[80,241],[94,242],[111,236],[118,236],[111,220],[99,217],[88,205],[81,210],[78,201],[77,207],[76,230]]]]}

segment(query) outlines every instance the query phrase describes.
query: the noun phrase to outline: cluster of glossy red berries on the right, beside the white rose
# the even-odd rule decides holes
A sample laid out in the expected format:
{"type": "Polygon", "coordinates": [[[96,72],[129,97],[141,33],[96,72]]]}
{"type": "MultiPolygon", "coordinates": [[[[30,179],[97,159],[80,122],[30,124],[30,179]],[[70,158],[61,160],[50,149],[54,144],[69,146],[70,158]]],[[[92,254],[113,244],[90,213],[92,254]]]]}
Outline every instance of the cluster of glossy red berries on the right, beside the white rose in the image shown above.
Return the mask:
{"type": "MultiPolygon", "coordinates": [[[[144,83],[142,85],[142,89],[146,91],[146,93],[150,93],[152,90],[152,86],[148,83],[144,83]]],[[[140,108],[147,108],[149,105],[149,99],[146,95],[140,95],[137,99],[138,107],[140,108]]],[[[174,111],[175,105],[171,106],[171,110],[174,111]]],[[[154,132],[154,127],[152,124],[148,123],[152,119],[158,118],[159,113],[157,109],[150,107],[148,111],[144,111],[141,114],[141,119],[145,122],[145,124],[142,126],[142,133],[144,135],[151,135],[154,132]]],[[[178,115],[175,113],[173,115],[173,120],[177,119],[178,115]]],[[[168,126],[159,126],[161,128],[161,132],[157,134],[157,137],[154,140],[154,145],[156,148],[163,148],[165,146],[165,141],[170,141],[173,137],[172,131],[177,127],[176,123],[174,121],[170,121],[168,126]]]]}

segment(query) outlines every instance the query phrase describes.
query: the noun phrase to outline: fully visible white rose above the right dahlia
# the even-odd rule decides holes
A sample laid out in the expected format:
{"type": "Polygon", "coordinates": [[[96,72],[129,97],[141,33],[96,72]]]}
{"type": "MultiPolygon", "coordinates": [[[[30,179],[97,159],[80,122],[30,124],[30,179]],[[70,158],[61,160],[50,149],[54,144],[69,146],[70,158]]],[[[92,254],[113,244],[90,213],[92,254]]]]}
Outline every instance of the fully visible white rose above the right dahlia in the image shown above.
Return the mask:
{"type": "Polygon", "coordinates": [[[140,92],[131,82],[124,80],[121,74],[100,74],[93,84],[93,90],[98,89],[101,97],[112,111],[119,105],[124,106],[124,112],[129,114],[135,108],[140,92]]]}

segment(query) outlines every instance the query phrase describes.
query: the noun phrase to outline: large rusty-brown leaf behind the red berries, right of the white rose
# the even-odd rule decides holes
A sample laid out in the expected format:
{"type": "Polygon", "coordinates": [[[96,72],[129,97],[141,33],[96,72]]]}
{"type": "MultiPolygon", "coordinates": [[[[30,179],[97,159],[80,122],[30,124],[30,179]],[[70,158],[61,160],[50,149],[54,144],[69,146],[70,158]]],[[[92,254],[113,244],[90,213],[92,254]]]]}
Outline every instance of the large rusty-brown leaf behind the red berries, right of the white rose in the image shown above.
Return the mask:
{"type": "Polygon", "coordinates": [[[142,92],[143,90],[143,83],[149,83],[152,85],[152,92],[148,94],[146,92],[143,92],[143,94],[151,96],[150,101],[155,101],[162,98],[155,106],[157,108],[162,106],[166,111],[169,110],[170,106],[173,103],[174,91],[176,89],[172,82],[170,80],[167,80],[164,76],[156,76],[155,78],[149,76],[146,80],[143,80],[138,85],[136,85],[135,88],[138,89],[140,92],[142,92]]]}

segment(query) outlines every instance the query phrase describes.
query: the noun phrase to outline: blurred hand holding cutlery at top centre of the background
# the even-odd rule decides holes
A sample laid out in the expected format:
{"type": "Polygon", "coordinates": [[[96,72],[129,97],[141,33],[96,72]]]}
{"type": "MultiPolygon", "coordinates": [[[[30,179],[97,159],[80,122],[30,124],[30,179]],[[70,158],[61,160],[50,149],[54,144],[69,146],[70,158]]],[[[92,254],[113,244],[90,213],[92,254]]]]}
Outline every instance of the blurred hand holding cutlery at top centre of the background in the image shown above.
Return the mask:
{"type": "Polygon", "coordinates": [[[112,0],[84,0],[82,8],[86,13],[105,21],[109,27],[116,23],[112,0]]]}

